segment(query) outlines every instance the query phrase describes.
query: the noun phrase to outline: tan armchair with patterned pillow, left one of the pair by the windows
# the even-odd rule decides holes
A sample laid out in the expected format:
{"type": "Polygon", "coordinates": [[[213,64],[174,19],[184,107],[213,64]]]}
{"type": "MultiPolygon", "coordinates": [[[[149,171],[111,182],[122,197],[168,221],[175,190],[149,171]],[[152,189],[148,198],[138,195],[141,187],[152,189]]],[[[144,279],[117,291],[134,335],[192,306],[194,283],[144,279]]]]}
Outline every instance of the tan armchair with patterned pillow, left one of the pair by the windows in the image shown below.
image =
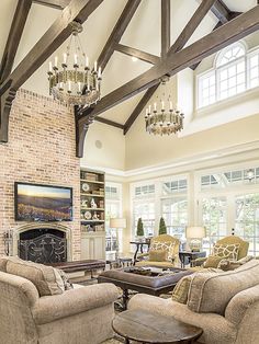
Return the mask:
{"type": "Polygon", "coordinates": [[[136,266],[173,267],[179,260],[180,241],[168,234],[161,234],[151,239],[147,253],[137,256],[136,266]]]}

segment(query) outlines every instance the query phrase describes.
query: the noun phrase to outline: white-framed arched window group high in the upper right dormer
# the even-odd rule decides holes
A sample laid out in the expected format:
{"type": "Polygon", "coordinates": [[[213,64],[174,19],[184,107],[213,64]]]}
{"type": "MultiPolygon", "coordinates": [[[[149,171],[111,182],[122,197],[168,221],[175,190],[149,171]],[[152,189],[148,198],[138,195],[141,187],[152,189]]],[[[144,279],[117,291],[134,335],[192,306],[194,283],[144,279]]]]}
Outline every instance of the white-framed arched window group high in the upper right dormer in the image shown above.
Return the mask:
{"type": "Polygon", "coordinates": [[[259,85],[259,50],[247,53],[241,42],[216,55],[214,69],[198,76],[198,107],[259,85]]]}

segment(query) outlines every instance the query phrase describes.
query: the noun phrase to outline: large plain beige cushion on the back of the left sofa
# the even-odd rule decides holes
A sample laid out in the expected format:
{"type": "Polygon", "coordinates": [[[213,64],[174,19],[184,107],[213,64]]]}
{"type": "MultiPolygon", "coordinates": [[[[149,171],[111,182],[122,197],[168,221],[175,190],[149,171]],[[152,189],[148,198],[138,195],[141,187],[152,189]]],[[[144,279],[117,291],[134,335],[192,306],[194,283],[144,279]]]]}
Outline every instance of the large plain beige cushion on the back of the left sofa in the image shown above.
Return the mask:
{"type": "Polygon", "coordinates": [[[53,266],[22,260],[8,261],[7,273],[31,280],[37,288],[40,296],[58,295],[65,290],[63,279],[53,266]]]}

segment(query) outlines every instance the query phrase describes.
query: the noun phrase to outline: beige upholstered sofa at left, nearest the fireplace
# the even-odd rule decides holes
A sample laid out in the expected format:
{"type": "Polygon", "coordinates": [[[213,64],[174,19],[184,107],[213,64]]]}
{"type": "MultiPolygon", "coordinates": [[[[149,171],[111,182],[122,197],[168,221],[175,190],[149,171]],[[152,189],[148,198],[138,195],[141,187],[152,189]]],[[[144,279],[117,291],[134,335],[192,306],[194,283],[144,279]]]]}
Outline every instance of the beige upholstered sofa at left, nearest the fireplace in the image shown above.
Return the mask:
{"type": "MultiPolygon", "coordinates": [[[[10,268],[16,274],[16,267],[10,268]]],[[[0,271],[0,343],[99,344],[112,337],[114,285],[55,289],[58,294],[40,297],[31,280],[15,274],[0,271]]]]}

